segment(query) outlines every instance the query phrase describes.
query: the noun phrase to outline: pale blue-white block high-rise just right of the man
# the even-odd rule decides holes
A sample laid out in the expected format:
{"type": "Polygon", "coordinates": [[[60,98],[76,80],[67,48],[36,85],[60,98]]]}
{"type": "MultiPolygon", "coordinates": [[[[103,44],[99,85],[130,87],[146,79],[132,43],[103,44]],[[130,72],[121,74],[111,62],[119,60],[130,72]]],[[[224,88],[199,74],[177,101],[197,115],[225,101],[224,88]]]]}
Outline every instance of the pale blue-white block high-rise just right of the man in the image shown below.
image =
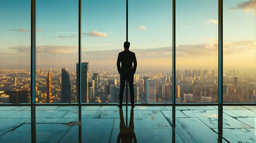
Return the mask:
{"type": "Polygon", "coordinates": [[[156,103],[156,80],[146,79],[146,102],[156,103]]]}

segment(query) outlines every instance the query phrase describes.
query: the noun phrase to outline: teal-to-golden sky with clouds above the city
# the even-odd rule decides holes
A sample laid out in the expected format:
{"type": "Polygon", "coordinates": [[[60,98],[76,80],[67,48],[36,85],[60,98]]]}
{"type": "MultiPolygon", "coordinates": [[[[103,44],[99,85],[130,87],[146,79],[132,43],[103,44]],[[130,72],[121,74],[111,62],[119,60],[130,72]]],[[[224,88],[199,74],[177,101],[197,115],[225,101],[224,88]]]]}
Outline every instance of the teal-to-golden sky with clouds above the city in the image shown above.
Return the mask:
{"type": "MultiPolygon", "coordinates": [[[[256,0],[223,0],[224,69],[256,69],[256,0]]],[[[171,0],[129,0],[138,70],[171,69],[171,0]]],[[[0,1],[0,68],[30,67],[30,0],[0,1]]],[[[78,0],[36,1],[36,66],[75,69],[78,0]]],[[[82,0],[82,62],[116,68],[126,0],[82,0]]],[[[176,0],[176,69],[217,69],[218,0],[176,0]]]]}

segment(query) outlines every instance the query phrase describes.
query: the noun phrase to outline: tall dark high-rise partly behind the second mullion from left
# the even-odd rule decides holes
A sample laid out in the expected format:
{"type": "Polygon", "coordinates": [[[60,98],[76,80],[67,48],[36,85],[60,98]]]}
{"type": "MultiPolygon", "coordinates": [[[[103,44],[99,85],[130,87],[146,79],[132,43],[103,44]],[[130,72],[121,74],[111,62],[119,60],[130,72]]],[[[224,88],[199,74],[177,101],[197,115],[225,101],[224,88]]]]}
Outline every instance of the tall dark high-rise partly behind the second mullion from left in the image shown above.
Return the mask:
{"type": "MultiPolygon", "coordinates": [[[[78,73],[78,63],[76,63],[76,96],[77,102],[79,99],[79,73],[78,73]]],[[[89,79],[88,79],[88,70],[89,63],[81,63],[81,97],[82,103],[89,103],[88,97],[88,87],[89,87],[89,79]]]]}

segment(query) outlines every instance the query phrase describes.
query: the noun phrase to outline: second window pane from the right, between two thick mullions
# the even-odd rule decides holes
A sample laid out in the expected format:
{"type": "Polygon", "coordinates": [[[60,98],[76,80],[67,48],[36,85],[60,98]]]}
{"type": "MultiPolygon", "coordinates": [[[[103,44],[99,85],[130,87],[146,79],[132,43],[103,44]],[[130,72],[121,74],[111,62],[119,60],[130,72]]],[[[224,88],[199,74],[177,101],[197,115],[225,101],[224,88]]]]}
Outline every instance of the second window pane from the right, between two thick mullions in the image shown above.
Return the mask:
{"type": "Polygon", "coordinates": [[[218,0],[176,1],[176,103],[218,101],[218,0]]]}

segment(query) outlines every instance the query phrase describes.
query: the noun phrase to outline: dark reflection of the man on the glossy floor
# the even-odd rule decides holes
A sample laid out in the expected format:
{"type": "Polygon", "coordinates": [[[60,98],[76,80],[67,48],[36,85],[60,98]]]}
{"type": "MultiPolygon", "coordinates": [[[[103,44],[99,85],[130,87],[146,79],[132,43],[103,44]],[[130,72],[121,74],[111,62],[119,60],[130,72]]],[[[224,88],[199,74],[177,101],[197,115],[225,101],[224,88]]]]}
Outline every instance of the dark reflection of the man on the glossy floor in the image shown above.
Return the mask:
{"type": "Polygon", "coordinates": [[[120,114],[120,132],[117,137],[117,143],[137,143],[137,139],[134,133],[133,108],[131,109],[131,112],[130,112],[130,123],[128,128],[126,128],[126,125],[124,123],[122,108],[119,108],[119,114],[120,114]]]}

